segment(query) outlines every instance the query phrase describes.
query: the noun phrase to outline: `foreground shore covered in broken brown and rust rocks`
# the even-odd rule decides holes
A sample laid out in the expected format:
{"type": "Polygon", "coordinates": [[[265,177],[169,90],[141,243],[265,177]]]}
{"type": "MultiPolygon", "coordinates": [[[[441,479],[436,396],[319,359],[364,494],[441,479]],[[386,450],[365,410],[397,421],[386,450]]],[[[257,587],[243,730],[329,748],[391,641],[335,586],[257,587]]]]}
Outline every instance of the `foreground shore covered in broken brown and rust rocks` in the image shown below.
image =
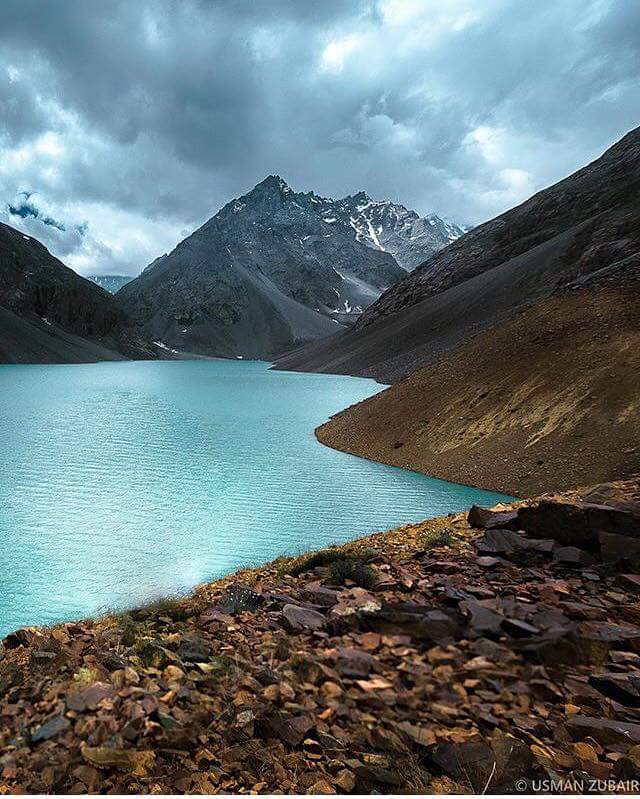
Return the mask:
{"type": "Polygon", "coordinates": [[[18,630],[0,697],[4,793],[638,792],[640,481],[18,630]]]}

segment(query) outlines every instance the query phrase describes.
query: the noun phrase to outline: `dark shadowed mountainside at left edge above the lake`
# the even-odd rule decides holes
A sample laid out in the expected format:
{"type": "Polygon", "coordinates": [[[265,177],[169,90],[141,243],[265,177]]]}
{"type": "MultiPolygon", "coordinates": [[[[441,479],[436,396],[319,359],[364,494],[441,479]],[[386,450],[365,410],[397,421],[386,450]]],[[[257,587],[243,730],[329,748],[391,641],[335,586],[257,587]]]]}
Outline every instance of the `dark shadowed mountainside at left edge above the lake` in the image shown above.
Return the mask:
{"type": "Polygon", "coordinates": [[[154,357],[104,289],[0,223],[0,363],[154,357]]]}

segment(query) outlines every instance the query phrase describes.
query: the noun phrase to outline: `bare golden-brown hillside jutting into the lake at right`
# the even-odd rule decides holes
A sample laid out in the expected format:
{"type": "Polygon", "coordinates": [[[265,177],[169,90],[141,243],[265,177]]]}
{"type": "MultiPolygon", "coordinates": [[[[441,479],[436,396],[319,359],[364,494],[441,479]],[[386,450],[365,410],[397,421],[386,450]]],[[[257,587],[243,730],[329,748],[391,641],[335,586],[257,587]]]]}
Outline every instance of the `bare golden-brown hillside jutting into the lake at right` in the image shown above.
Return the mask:
{"type": "Polygon", "coordinates": [[[640,281],[574,289],[337,414],[319,440],[527,496],[640,470],[640,281]]]}

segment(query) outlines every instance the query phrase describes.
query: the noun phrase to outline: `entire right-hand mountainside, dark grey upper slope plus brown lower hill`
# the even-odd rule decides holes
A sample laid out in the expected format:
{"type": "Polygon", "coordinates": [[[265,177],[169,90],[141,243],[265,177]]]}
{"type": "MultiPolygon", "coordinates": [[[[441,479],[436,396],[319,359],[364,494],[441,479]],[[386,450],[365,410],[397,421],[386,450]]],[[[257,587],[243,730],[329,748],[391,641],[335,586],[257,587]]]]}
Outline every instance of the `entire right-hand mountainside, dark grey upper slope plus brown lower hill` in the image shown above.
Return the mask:
{"type": "Polygon", "coordinates": [[[640,128],[278,365],[394,383],[318,429],[356,455],[515,496],[640,473],[639,215],[640,128]]]}

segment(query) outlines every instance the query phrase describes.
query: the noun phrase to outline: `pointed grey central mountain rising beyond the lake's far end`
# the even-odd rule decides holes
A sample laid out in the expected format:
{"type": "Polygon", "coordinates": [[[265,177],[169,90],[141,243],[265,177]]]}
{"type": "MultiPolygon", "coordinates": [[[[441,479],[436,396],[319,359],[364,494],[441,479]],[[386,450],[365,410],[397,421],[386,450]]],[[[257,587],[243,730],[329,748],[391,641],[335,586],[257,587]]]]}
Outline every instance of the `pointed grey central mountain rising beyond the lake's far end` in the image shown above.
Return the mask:
{"type": "Polygon", "coordinates": [[[117,293],[144,334],[200,355],[269,358],[325,338],[405,270],[270,175],[117,293]]]}

